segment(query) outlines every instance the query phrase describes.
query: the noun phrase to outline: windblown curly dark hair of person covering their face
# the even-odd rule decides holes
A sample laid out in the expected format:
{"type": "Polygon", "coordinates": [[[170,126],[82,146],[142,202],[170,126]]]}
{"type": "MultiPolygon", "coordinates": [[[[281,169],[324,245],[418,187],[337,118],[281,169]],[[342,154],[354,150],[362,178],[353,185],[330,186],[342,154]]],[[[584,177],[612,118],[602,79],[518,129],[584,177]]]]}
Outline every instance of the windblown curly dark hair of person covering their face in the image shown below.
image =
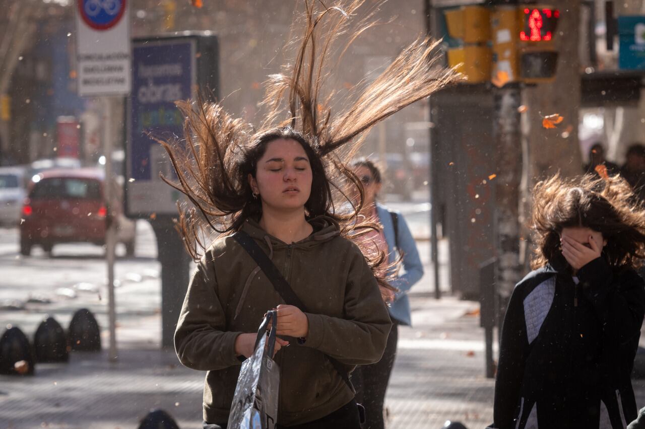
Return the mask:
{"type": "Polygon", "coordinates": [[[620,176],[584,175],[543,180],[533,189],[531,218],[537,249],[531,268],[562,258],[560,233],[586,227],[602,233],[602,252],[614,268],[635,268],[645,258],[645,209],[620,176]]]}

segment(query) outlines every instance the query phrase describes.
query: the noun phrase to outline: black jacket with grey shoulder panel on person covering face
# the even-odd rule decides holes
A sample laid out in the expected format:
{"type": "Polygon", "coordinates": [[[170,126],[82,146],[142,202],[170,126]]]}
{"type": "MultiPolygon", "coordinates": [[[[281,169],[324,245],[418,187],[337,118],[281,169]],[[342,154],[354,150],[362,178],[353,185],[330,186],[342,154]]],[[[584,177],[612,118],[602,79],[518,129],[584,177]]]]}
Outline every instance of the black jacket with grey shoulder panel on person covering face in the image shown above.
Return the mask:
{"type": "Polygon", "coordinates": [[[496,429],[624,429],[644,282],[603,257],[571,276],[562,259],[515,287],[502,330],[496,429]]]}

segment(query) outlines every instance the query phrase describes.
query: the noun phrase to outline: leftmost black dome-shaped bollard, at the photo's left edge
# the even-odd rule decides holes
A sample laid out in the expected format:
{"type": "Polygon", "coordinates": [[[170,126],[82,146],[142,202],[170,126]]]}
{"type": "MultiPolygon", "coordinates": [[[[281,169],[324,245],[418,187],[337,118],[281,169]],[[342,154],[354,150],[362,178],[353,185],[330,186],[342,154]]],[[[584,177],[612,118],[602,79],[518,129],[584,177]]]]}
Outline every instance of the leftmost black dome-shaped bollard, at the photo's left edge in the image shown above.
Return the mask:
{"type": "Polygon", "coordinates": [[[34,352],[25,333],[8,327],[0,338],[0,374],[32,376],[34,364],[34,352]]]}

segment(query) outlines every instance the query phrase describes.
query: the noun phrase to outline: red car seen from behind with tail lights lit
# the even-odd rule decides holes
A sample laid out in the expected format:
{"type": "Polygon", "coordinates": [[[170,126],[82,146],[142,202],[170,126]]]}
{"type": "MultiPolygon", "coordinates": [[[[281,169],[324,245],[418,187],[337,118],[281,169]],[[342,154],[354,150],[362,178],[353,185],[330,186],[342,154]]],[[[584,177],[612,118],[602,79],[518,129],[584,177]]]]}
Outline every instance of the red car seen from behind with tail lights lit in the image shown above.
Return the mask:
{"type": "MultiPolygon", "coordinates": [[[[55,169],[32,178],[23,204],[20,253],[28,256],[34,245],[47,253],[57,243],[105,243],[104,171],[96,168],[55,169]]],[[[117,193],[120,191],[114,187],[117,193]]],[[[135,223],[123,215],[121,198],[115,198],[117,241],[126,254],[134,254],[135,223]]]]}

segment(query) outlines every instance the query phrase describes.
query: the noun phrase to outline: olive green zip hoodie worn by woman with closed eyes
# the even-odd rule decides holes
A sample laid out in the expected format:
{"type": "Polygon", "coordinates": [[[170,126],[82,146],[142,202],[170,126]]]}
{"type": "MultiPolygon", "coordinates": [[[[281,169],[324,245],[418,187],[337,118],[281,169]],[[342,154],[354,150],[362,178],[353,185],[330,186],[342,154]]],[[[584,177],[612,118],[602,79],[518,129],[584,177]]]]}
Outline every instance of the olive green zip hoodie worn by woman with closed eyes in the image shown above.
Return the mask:
{"type": "MultiPolygon", "coordinates": [[[[263,247],[308,307],[309,333],[275,355],[280,367],[278,423],[301,424],[328,415],[354,394],[325,354],[355,365],[381,359],[391,322],[370,267],[359,248],[339,236],[325,216],[310,220],[313,233],[287,245],[253,221],[243,230],[263,247]]],[[[241,361],[235,338],[256,332],[266,310],[284,303],[251,256],[228,236],[197,265],[184,300],[175,350],[186,367],[206,370],[204,420],[226,423],[241,361]]]]}

